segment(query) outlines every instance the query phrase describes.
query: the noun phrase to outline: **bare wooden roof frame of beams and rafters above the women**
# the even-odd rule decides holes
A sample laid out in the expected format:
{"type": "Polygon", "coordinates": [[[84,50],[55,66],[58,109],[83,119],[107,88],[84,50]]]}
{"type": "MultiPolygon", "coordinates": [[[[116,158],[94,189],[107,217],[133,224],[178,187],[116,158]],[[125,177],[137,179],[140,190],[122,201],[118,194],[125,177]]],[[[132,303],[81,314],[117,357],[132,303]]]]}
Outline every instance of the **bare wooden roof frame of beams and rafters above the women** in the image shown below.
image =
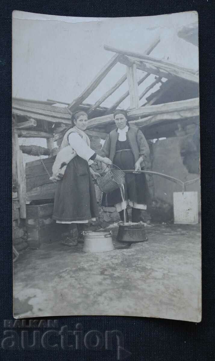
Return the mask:
{"type": "MultiPolygon", "coordinates": [[[[180,34],[183,35],[183,31],[180,34]]],[[[57,100],[35,101],[13,98],[14,142],[18,142],[18,137],[45,138],[50,156],[56,155],[57,148],[54,142],[60,145],[65,130],[71,126],[72,113],[77,110],[84,110],[89,116],[86,133],[89,136],[105,139],[115,127],[113,112],[120,109],[120,104],[128,96],[130,106],[127,110],[130,125],[140,128],[146,139],[175,136],[179,125],[183,127],[185,123],[199,124],[198,70],[187,69],[179,64],[150,56],[159,42],[160,38],[155,39],[144,53],[104,45],[106,51],[114,53],[113,57],[70,104],[57,100]],[[116,64],[126,67],[125,74],[94,104],[85,103],[116,64]],[[139,80],[137,71],[142,72],[139,80]],[[150,75],[153,77],[151,83],[139,93],[139,85],[144,85],[150,75]],[[102,106],[104,101],[126,81],[128,90],[109,108],[102,106]],[[156,89],[158,86],[159,88],[153,92],[155,86],[156,89]],[[143,97],[146,102],[141,104],[143,97]],[[61,104],[64,107],[59,106],[61,104]]],[[[17,144],[14,147],[18,149],[17,144]]],[[[16,155],[14,157],[16,158],[16,155]]]]}

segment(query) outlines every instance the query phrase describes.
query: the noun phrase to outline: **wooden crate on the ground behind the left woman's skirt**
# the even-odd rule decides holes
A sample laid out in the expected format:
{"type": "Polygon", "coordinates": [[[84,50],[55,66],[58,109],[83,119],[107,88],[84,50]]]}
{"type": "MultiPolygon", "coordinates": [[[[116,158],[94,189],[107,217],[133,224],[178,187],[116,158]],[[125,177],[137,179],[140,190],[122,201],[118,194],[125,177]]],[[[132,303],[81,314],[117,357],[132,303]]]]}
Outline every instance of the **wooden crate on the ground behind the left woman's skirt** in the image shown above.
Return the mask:
{"type": "Polygon", "coordinates": [[[29,247],[39,248],[41,244],[60,239],[59,225],[52,219],[53,203],[26,206],[26,229],[29,247]]]}

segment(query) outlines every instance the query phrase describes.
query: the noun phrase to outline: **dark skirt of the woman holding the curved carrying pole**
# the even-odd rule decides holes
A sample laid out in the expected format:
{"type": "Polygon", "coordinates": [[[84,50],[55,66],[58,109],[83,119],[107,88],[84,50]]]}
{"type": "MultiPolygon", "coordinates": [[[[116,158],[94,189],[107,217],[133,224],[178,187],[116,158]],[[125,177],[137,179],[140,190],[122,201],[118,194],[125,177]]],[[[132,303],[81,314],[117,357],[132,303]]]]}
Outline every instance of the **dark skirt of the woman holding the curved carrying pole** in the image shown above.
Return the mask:
{"type": "MultiPolygon", "coordinates": [[[[135,169],[134,156],[131,151],[117,152],[113,164],[117,165],[120,169],[135,169]]],[[[146,180],[146,175],[126,173],[125,174],[125,200],[130,200],[138,204],[150,203],[149,188],[146,180]]],[[[110,207],[117,203],[122,202],[120,189],[116,189],[111,193],[103,193],[102,206],[110,207]]]]}

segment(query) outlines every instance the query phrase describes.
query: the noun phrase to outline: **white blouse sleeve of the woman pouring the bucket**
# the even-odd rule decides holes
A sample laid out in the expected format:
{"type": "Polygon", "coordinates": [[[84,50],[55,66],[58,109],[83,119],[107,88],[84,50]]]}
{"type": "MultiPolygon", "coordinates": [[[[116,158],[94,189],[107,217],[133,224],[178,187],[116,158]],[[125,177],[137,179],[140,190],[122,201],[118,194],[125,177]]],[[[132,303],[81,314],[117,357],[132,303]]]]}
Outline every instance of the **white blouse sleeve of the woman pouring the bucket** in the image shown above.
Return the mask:
{"type": "Polygon", "coordinates": [[[77,155],[86,161],[89,161],[89,159],[95,154],[93,149],[91,149],[81,136],[75,132],[69,134],[68,141],[74,151],[76,151],[77,155]]]}

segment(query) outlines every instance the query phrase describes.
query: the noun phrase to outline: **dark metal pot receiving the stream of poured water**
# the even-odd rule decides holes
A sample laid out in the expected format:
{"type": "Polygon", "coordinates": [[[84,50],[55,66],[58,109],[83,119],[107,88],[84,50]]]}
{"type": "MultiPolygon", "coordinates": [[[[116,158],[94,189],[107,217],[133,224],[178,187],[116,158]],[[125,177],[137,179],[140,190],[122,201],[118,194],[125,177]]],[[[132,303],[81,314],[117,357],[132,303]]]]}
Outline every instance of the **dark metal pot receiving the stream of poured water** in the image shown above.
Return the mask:
{"type": "Polygon", "coordinates": [[[117,234],[118,242],[145,242],[148,240],[145,232],[145,226],[141,223],[124,223],[119,222],[117,234]]]}

